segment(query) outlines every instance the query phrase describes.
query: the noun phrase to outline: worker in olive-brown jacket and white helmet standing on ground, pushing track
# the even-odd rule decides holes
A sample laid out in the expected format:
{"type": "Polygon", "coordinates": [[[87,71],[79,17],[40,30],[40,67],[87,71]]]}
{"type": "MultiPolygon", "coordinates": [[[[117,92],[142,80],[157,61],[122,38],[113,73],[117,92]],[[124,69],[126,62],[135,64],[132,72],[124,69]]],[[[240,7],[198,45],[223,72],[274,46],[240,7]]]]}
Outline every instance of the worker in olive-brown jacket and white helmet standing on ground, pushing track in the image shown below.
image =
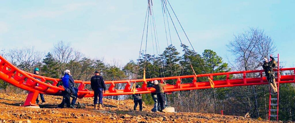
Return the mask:
{"type": "Polygon", "coordinates": [[[160,107],[161,107],[161,109],[160,109],[160,111],[161,112],[166,112],[165,111],[165,96],[164,96],[164,86],[166,86],[166,83],[165,83],[165,81],[164,81],[164,83],[159,83],[158,82],[158,80],[155,80],[154,81],[154,86],[153,86],[153,88],[155,88],[156,89],[156,93],[157,93],[157,97],[158,97],[158,103],[160,103],[160,107]]]}

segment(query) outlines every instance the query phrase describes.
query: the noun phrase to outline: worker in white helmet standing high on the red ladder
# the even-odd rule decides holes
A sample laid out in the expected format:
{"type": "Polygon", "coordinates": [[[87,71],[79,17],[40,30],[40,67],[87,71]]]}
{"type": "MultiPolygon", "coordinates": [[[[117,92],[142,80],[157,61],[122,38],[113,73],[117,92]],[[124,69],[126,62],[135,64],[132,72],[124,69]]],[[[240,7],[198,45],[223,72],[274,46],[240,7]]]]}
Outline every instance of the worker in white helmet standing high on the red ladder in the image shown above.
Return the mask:
{"type": "Polygon", "coordinates": [[[268,84],[270,85],[272,92],[277,93],[278,87],[276,85],[275,75],[273,73],[273,67],[276,66],[276,61],[273,57],[269,57],[271,58],[271,61],[268,62],[268,59],[264,58],[262,67],[265,71],[266,79],[268,80],[268,84]]]}

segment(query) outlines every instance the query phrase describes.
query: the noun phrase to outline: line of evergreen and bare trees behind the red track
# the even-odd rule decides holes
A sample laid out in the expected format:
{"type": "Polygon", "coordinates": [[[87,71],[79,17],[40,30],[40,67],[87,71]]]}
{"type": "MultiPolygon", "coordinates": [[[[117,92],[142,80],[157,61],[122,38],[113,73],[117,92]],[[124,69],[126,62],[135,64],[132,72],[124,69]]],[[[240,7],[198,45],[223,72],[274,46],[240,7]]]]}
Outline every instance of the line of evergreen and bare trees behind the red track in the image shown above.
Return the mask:
{"type": "MultiPolygon", "coordinates": [[[[196,74],[221,73],[229,71],[261,70],[261,60],[276,52],[276,45],[270,36],[259,28],[249,28],[243,33],[234,35],[227,44],[232,57],[224,62],[222,57],[213,50],[207,49],[203,53],[195,53],[188,46],[182,44],[182,52],[170,45],[161,54],[140,54],[136,61],[130,60],[126,65],[114,62],[106,63],[103,59],[86,57],[71,46],[70,43],[58,41],[53,50],[42,53],[34,47],[24,47],[1,50],[0,54],[18,68],[33,72],[39,67],[41,75],[60,78],[65,69],[70,69],[75,80],[89,81],[95,70],[100,70],[104,80],[130,80],[142,78],[143,70],[146,78],[193,75],[191,65],[196,74]],[[46,55],[44,55],[46,54],[46,55]]],[[[284,74],[284,73],[282,73],[284,74]]],[[[290,71],[290,74],[292,72],[290,71]]],[[[294,72],[293,72],[294,74],[294,72]]],[[[214,80],[224,80],[226,76],[214,77],[214,80]]],[[[233,75],[231,78],[242,78],[233,75]]],[[[248,74],[248,77],[260,77],[248,74]]],[[[207,78],[198,78],[206,81],[207,78]]],[[[183,83],[192,82],[183,79],[183,83]]],[[[176,80],[166,83],[174,85],[176,80]]],[[[78,86],[78,85],[76,85],[78,86]]],[[[125,84],[116,85],[116,89],[124,89],[125,84]]],[[[7,92],[25,92],[0,80],[0,88],[7,92]]],[[[90,89],[87,85],[86,88],[90,89]]],[[[240,115],[250,112],[253,118],[267,118],[268,114],[268,86],[253,85],[241,87],[212,88],[203,90],[177,91],[167,95],[168,105],[175,107],[178,112],[220,113],[226,115],[240,115]]],[[[294,84],[280,85],[280,120],[295,121],[295,86],[294,84]]],[[[109,96],[116,100],[131,99],[130,95],[109,96]]],[[[150,94],[142,95],[143,101],[153,104],[150,94]]]]}

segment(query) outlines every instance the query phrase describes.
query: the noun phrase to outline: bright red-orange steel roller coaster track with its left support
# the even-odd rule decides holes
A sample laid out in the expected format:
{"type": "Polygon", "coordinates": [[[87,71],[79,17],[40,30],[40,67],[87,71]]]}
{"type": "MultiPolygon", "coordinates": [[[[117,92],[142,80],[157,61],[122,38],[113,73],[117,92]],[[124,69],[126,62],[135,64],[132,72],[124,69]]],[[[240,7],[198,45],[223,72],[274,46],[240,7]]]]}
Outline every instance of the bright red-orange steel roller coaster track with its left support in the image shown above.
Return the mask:
{"type": "MultiPolygon", "coordinates": [[[[39,93],[46,95],[61,95],[61,91],[64,90],[62,86],[57,87],[56,85],[60,81],[57,78],[44,77],[35,75],[32,73],[25,72],[12,65],[9,61],[0,55],[0,79],[8,82],[16,87],[23,90],[29,91],[28,97],[23,106],[36,106],[35,100],[39,93]],[[41,80],[35,79],[40,78],[41,80]],[[53,84],[51,84],[53,83],[53,84]]],[[[295,71],[295,68],[281,68],[281,71],[295,71]]],[[[152,80],[159,80],[161,82],[165,80],[176,80],[175,85],[167,85],[164,87],[165,92],[183,91],[183,90],[196,90],[196,89],[207,89],[211,88],[209,81],[197,82],[200,77],[210,77],[214,81],[214,88],[219,87],[234,87],[234,86],[248,86],[248,85],[266,85],[268,84],[266,77],[263,76],[263,70],[250,70],[250,71],[237,71],[237,72],[226,72],[226,73],[211,73],[211,74],[200,74],[200,75],[186,75],[186,76],[173,76],[173,77],[162,77],[162,78],[150,78],[150,79],[137,79],[137,80],[119,80],[119,81],[105,81],[106,84],[110,84],[109,89],[106,90],[104,96],[111,95],[130,95],[130,94],[145,94],[154,92],[154,88],[147,87],[147,82],[152,80]],[[255,73],[260,77],[248,77],[247,74],[255,73]],[[231,79],[230,76],[240,74],[243,77],[239,79],[231,79]],[[214,80],[216,76],[226,76],[225,80],[214,80]],[[182,79],[190,78],[192,82],[182,83],[182,79]],[[132,83],[142,82],[142,88],[138,88],[133,91],[130,86],[132,83]],[[115,89],[116,84],[126,83],[125,88],[122,90],[115,89]]],[[[290,73],[290,72],[289,72],[290,73]]],[[[291,74],[293,74],[291,73],[291,74]]],[[[295,75],[280,75],[280,83],[294,83],[295,75]]],[[[85,89],[85,85],[90,84],[89,81],[75,80],[75,83],[80,83],[78,87],[78,98],[93,97],[94,92],[85,89]]]]}

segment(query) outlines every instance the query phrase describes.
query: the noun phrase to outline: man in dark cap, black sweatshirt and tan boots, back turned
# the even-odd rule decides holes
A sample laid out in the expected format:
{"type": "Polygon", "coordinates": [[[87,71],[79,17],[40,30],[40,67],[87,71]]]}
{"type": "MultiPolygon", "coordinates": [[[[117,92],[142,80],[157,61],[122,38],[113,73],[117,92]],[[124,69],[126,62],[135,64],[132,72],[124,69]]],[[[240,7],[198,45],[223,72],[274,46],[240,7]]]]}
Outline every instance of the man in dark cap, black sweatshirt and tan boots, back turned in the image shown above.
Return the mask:
{"type": "Polygon", "coordinates": [[[102,107],[102,98],[103,93],[106,92],[106,84],[104,83],[104,79],[100,76],[100,72],[98,70],[94,72],[94,76],[91,77],[90,81],[91,89],[94,91],[94,109],[104,110],[104,108],[102,107]],[[97,96],[99,97],[98,105],[97,96]]]}

